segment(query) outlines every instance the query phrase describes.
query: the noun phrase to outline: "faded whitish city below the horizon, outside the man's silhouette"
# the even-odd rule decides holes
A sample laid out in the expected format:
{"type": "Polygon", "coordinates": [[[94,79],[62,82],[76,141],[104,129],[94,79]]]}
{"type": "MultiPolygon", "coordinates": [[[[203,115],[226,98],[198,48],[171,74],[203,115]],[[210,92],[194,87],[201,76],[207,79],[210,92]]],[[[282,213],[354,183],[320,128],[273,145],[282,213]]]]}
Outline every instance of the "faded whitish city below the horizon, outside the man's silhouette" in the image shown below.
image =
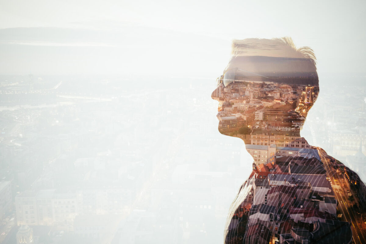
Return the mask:
{"type": "MultiPolygon", "coordinates": [[[[78,90],[74,76],[2,79],[4,243],[23,225],[38,243],[222,240],[252,165],[241,139],[217,131],[213,81],[77,77],[78,90]]],[[[364,161],[350,158],[365,152],[365,87],[326,79],[301,135],[362,177],[364,161]]]]}

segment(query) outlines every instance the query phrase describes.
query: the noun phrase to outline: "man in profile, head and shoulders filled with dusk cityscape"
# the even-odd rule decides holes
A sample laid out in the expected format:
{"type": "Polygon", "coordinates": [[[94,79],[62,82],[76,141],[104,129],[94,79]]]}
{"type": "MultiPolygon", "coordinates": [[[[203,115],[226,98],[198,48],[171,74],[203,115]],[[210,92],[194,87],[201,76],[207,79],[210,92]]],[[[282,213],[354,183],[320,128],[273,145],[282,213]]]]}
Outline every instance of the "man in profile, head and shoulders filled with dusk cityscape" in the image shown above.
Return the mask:
{"type": "MultiPolygon", "coordinates": [[[[219,131],[241,138],[253,157],[253,172],[229,211],[225,243],[366,243],[365,184],[300,136],[319,95],[315,56],[306,49],[289,38],[235,40],[217,79],[211,97],[219,101],[219,131]]],[[[361,143],[355,165],[365,160],[361,143]]]]}

